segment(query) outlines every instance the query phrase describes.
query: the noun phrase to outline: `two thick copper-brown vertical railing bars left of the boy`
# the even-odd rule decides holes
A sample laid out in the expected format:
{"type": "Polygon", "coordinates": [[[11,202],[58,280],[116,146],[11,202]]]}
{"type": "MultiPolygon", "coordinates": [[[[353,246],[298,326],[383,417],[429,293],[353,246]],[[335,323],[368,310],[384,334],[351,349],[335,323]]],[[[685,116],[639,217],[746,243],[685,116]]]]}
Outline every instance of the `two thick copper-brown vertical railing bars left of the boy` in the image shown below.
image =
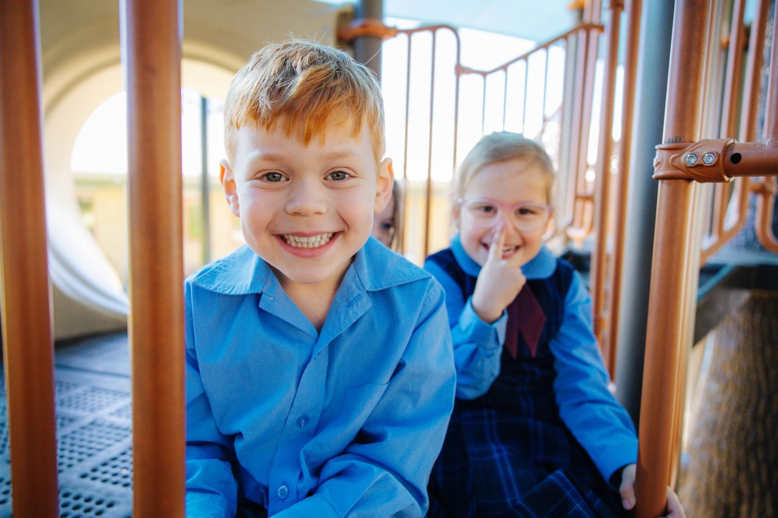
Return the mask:
{"type": "MultiPolygon", "coordinates": [[[[15,516],[59,516],[37,12],[35,0],[0,2],[2,332],[15,516]]],[[[184,516],[180,14],[180,2],[121,2],[134,516],[184,516]]]]}

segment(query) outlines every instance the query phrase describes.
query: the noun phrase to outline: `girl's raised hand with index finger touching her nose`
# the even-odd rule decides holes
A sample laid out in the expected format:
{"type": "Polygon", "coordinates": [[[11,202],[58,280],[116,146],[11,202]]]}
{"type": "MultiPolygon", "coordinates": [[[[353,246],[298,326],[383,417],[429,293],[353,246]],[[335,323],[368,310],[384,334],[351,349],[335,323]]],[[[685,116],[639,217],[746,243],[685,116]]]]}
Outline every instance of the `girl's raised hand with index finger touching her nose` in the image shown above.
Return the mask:
{"type": "Polygon", "coordinates": [[[513,259],[517,254],[503,259],[505,235],[505,225],[501,224],[492,239],[492,245],[489,246],[489,256],[475,282],[473,309],[484,322],[495,322],[527,283],[527,277],[521,273],[517,259],[513,259]]]}

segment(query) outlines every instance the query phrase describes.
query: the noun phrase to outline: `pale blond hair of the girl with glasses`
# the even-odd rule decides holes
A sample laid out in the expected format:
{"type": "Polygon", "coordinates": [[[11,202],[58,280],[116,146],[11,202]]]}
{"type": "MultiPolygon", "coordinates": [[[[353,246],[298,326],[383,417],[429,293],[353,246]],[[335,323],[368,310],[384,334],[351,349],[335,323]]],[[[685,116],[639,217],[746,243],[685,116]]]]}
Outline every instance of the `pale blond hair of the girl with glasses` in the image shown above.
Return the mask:
{"type": "Polygon", "coordinates": [[[454,201],[459,200],[468,184],[485,166],[506,160],[520,159],[528,164],[537,162],[545,174],[547,181],[547,203],[552,203],[552,186],[554,184],[554,165],[548,153],[537,142],[510,131],[495,131],[482,137],[478,144],[464,157],[457,172],[454,184],[454,201]]]}

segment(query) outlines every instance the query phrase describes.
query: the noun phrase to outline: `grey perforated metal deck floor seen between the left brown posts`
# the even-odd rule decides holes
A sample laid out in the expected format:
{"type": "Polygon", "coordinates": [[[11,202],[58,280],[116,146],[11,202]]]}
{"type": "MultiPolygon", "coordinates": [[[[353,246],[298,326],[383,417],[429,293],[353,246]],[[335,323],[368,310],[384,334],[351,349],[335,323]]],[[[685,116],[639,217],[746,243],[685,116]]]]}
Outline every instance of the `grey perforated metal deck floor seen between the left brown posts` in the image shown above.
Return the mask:
{"type": "MultiPolygon", "coordinates": [[[[130,357],[117,333],[54,353],[61,518],[132,515],[130,357]]],[[[2,370],[0,370],[2,379],[2,370]]],[[[12,516],[5,380],[0,384],[0,517],[12,516]]]]}

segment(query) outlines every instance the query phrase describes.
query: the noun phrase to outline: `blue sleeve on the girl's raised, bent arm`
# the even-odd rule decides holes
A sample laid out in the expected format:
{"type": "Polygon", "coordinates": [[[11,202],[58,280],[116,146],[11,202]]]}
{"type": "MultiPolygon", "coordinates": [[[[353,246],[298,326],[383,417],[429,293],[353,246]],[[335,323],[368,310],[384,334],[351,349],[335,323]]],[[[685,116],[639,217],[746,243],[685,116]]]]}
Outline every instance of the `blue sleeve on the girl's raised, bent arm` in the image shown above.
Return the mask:
{"type": "Polygon", "coordinates": [[[484,322],[473,309],[472,297],[465,301],[459,285],[440,266],[427,261],[424,268],[446,292],[446,310],[457,367],[457,398],[478,398],[489,391],[499,376],[508,312],[503,311],[503,315],[492,324],[484,322]]]}

